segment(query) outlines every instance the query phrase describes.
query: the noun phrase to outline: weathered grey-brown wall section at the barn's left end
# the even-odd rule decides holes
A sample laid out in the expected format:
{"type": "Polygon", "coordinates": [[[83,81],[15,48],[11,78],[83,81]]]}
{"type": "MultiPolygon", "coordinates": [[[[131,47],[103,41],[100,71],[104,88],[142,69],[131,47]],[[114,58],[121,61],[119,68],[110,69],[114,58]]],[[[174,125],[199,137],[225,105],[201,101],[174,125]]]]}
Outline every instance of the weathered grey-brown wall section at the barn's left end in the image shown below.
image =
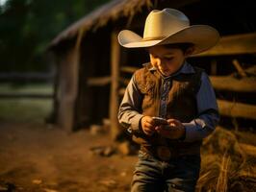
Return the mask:
{"type": "Polygon", "coordinates": [[[58,74],[55,79],[53,114],[55,122],[67,132],[73,130],[77,97],[79,53],[74,42],[70,39],[54,49],[58,74]]]}

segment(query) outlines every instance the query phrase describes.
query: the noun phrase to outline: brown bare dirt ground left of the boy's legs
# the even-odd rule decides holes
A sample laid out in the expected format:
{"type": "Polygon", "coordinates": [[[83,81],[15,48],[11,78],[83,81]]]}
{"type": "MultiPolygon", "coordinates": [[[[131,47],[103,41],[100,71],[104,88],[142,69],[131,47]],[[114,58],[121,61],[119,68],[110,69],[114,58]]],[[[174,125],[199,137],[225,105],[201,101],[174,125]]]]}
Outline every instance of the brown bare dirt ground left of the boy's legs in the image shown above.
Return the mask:
{"type": "Polygon", "coordinates": [[[67,133],[38,123],[0,125],[0,191],[124,192],[137,156],[99,156],[108,135],[67,133]]]}

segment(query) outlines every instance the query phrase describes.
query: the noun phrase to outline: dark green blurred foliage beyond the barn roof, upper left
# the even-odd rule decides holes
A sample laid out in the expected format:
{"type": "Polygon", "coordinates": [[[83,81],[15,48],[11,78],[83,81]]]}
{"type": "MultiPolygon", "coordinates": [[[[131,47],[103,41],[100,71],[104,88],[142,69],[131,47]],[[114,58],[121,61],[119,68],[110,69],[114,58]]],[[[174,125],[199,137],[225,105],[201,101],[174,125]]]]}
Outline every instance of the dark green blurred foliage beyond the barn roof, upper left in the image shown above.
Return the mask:
{"type": "Polygon", "coordinates": [[[0,6],[0,71],[48,71],[44,51],[68,25],[108,0],[8,0],[0,6]]]}

